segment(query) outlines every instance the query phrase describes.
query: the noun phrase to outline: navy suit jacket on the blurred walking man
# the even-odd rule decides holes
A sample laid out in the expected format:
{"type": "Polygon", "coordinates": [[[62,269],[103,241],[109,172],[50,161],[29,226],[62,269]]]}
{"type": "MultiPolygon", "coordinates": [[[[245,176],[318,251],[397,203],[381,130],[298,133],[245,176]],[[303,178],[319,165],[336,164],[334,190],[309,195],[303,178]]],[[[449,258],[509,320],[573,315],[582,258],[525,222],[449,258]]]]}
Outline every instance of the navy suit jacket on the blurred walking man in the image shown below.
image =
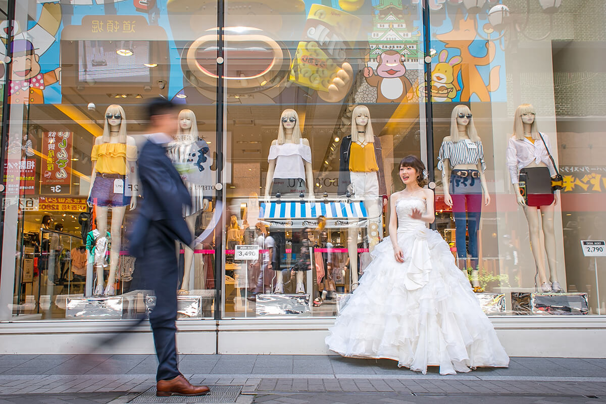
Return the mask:
{"type": "Polygon", "coordinates": [[[147,231],[152,225],[160,227],[173,240],[189,245],[192,237],[182,208],[191,206],[191,197],[164,147],[145,142],[139,154],[139,178],[143,199],[129,237],[130,254],[143,255],[147,231]]]}

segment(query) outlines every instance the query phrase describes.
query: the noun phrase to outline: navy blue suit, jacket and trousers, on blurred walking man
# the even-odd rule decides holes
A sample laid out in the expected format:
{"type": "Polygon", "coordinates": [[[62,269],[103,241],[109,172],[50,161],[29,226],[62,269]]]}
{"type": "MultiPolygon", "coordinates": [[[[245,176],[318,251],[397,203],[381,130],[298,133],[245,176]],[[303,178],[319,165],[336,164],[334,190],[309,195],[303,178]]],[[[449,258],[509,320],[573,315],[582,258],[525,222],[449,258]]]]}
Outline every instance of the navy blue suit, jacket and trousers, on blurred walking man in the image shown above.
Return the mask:
{"type": "Polygon", "coordinates": [[[150,313],[158,373],[156,380],[179,376],[176,350],[178,265],[175,240],[189,245],[190,230],[181,212],[191,198],[161,145],[147,141],[139,154],[142,202],[130,234],[130,254],[137,257],[133,286],[155,291],[150,313]]]}

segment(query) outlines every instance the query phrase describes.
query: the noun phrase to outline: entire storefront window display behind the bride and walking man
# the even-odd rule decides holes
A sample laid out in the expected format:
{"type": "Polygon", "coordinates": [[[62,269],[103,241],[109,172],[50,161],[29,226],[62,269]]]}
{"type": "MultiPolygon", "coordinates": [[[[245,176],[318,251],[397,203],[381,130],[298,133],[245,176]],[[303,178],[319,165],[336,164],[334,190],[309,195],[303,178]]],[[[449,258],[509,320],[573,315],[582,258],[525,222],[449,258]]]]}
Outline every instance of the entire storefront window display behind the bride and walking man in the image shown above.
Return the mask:
{"type": "Polygon", "coordinates": [[[64,3],[1,25],[0,320],[150,310],[127,234],[155,96],[192,197],[179,318],[336,316],[408,154],[488,314],[606,311],[599,0],[64,3]]]}

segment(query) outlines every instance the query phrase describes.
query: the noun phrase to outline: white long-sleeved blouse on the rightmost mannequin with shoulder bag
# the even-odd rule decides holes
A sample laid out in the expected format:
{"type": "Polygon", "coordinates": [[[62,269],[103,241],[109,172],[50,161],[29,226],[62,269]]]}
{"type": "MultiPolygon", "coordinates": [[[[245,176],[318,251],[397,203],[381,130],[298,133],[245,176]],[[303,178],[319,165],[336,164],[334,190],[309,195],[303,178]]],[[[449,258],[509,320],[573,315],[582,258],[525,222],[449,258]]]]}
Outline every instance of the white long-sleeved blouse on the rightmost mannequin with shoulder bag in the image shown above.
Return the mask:
{"type": "MultiPolygon", "coordinates": [[[[541,134],[545,139],[547,148],[551,151],[551,143],[549,137],[541,134]]],[[[507,145],[507,167],[509,168],[509,175],[511,176],[511,184],[518,184],[518,173],[522,168],[527,167],[528,164],[534,161],[535,164],[543,162],[549,168],[549,172],[553,177],[556,175],[556,170],[551,164],[545,145],[541,139],[536,139],[533,142],[524,138],[521,141],[516,139],[515,136],[509,138],[507,145]]]]}

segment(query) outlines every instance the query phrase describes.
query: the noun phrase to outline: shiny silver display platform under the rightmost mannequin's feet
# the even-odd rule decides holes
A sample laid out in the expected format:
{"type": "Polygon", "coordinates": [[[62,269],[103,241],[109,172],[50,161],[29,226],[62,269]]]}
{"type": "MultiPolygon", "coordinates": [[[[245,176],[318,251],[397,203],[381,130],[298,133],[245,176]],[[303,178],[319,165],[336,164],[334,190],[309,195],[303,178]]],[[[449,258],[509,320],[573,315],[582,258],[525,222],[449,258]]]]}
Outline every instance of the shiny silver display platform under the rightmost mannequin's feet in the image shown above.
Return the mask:
{"type": "Polygon", "coordinates": [[[511,292],[513,314],[584,315],[589,313],[587,293],[511,292]]]}

